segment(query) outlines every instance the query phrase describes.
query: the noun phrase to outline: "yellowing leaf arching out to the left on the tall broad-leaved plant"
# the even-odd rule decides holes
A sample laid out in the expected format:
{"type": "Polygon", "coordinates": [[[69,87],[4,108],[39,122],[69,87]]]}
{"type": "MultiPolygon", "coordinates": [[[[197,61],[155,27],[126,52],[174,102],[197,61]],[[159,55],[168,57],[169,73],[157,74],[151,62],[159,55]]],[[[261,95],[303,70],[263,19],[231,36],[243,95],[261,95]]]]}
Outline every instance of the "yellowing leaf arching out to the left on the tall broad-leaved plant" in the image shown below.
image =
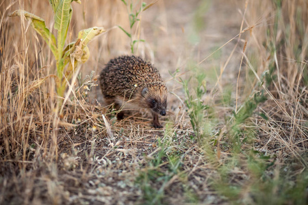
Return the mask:
{"type": "Polygon", "coordinates": [[[26,12],[24,10],[16,10],[9,14],[9,17],[12,16],[24,16],[27,18],[27,20],[31,21],[31,26],[42,36],[45,42],[49,45],[49,48],[51,49],[51,52],[53,52],[53,55],[55,55],[55,59],[57,59],[57,47],[56,47],[56,41],[55,41],[55,36],[53,36],[53,33],[47,29],[44,19],[31,14],[29,12],[26,12]]]}

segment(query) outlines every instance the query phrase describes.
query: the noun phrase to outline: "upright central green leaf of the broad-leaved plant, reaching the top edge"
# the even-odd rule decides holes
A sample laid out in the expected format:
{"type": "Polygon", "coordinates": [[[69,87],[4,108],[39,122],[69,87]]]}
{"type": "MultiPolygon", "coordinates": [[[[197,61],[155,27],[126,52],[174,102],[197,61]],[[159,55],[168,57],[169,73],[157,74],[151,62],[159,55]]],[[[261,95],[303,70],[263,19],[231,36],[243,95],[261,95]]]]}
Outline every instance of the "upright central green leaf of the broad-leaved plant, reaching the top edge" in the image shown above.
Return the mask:
{"type": "MultiPolygon", "coordinates": [[[[66,34],[70,18],[72,17],[71,0],[61,0],[55,12],[55,25],[57,29],[57,51],[58,55],[62,54],[62,49],[65,44],[66,34]]],[[[60,56],[59,56],[60,57],[60,56]]]]}

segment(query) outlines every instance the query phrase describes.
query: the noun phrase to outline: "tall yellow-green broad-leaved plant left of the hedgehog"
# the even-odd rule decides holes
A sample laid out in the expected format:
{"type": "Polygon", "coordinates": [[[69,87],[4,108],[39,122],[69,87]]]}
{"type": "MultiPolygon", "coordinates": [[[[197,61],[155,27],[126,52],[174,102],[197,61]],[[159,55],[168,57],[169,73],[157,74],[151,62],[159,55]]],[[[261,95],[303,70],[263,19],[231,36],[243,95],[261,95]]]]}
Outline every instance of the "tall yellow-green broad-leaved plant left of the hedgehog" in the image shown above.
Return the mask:
{"type": "MultiPolygon", "coordinates": [[[[92,27],[81,30],[79,31],[78,38],[75,42],[70,42],[70,44],[64,46],[68,27],[70,25],[70,19],[73,14],[71,6],[73,1],[81,3],[80,0],[49,0],[49,3],[53,8],[55,20],[54,29],[57,30],[57,38],[55,38],[53,33],[51,33],[46,27],[44,19],[24,10],[16,10],[9,14],[10,17],[21,16],[22,18],[27,18],[34,30],[42,36],[45,42],[47,42],[53,56],[55,57],[57,66],[56,74],[51,74],[48,77],[55,78],[57,94],[60,97],[64,97],[66,84],[73,77],[74,72],[77,72],[76,68],[88,60],[90,56],[88,43],[90,40],[92,40],[94,36],[105,32],[103,27],[92,27]]],[[[38,87],[38,85],[43,83],[48,77],[34,82],[34,87],[38,87]]],[[[62,103],[62,100],[59,102],[62,103]]]]}

